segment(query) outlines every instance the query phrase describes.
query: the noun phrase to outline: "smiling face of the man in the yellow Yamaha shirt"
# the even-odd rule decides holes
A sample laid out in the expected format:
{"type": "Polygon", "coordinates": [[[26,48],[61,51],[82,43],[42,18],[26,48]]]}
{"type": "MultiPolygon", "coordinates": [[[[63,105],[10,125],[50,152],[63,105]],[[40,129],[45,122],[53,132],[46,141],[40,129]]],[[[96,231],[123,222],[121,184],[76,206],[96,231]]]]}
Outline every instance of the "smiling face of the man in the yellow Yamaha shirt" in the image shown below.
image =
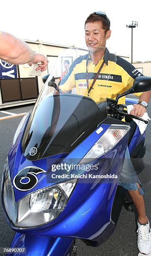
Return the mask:
{"type": "Polygon", "coordinates": [[[105,33],[101,22],[87,23],[85,26],[85,41],[89,50],[97,52],[99,49],[96,47],[105,47],[106,39],[110,37],[110,33],[110,30],[105,33]]]}

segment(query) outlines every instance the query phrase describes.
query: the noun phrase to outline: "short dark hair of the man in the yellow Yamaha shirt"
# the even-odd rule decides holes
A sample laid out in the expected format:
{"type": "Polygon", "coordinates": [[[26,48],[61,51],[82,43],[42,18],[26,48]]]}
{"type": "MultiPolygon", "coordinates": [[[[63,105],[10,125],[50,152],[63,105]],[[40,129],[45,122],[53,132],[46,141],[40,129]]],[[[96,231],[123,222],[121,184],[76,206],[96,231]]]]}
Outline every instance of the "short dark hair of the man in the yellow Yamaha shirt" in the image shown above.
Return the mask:
{"type": "Polygon", "coordinates": [[[105,33],[109,30],[109,25],[107,24],[107,21],[104,17],[101,15],[97,15],[95,13],[91,13],[88,17],[87,20],[85,21],[85,25],[87,23],[95,23],[95,22],[101,22],[102,28],[105,30],[105,33]]]}

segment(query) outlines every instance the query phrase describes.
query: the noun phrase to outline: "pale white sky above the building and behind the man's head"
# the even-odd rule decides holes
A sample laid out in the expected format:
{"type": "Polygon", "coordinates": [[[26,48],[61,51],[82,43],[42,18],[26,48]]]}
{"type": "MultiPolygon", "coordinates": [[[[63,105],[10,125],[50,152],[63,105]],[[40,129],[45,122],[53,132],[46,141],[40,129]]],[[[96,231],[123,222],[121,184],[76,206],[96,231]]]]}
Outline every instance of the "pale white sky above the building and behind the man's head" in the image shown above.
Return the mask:
{"type": "Polygon", "coordinates": [[[0,30],[18,38],[52,44],[85,47],[84,21],[90,13],[104,11],[111,20],[107,47],[118,55],[131,56],[132,20],[133,61],[151,61],[150,0],[7,0],[0,3],[0,30]]]}

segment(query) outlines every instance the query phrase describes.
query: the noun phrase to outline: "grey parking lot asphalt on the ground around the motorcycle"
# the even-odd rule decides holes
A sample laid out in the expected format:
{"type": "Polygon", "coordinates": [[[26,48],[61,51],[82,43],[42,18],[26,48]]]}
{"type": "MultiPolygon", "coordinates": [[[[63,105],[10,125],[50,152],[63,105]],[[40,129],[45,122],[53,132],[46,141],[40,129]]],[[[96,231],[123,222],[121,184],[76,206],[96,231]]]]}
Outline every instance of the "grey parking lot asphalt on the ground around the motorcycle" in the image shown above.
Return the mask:
{"type": "MultiPolygon", "coordinates": [[[[7,112],[14,114],[25,113],[33,108],[33,105],[26,105],[17,108],[7,108],[7,112]]],[[[151,116],[151,106],[147,108],[149,116],[151,116]]],[[[0,117],[7,116],[0,112],[0,117]]],[[[8,151],[12,145],[12,139],[15,130],[20,123],[22,116],[0,120],[0,183],[2,170],[8,151]]],[[[151,122],[146,128],[146,155],[144,162],[146,164],[144,172],[140,175],[143,179],[143,185],[146,189],[145,204],[146,213],[151,222],[151,122]]],[[[135,209],[134,209],[135,210],[135,209]]],[[[136,244],[136,214],[128,212],[123,207],[121,215],[117,223],[114,234],[103,245],[93,248],[85,245],[81,240],[77,239],[77,255],[79,256],[138,256],[136,244]]],[[[2,207],[0,207],[0,247],[9,246],[14,236],[14,231],[7,224],[2,207]]],[[[75,223],[76,225],[76,223],[75,223]]],[[[57,256],[57,255],[56,255],[57,256]]]]}

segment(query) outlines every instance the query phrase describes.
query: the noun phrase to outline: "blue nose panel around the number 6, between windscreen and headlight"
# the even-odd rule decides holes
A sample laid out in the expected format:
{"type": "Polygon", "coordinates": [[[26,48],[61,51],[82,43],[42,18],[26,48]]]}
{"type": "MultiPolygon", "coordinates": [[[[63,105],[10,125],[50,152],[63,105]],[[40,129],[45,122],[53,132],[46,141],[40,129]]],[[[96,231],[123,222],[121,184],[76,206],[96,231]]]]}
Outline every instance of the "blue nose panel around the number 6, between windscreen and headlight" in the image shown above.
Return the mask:
{"type": "MultiPolygon", "coordinates": [[[[94,131],[90,136],[88,136],[88,138],[86,140],[84,140],[77,148],[74,149],[74,151],[72,151],[67,156],[67,159],[68,158],[69,159],[70,158],[77,159],[77,161],[79,161],[79,159],[82,159],[84,157],[84,155],[87,153],[87,151],[89,151],[89,149],[93,146],[93,144],[99,139],[99,137],[101,137],[101,135],[107,130],[107,128],[109,128],[109,126],[110,125],[102,125],[103,131],[99,134],[97,134],[94,131]],[[92,141],[93,141],[93,144],[92,144],[92,141]]],[[[13,183],[13,179],[16,176],[16,174],[18,172],[20,172],[24,167],[37,166],[37,167],[47,171],[47,159],[49,159],[49,158],[40,159],[37,161],[29,161],[28,159],[26,159],[22,153],[21,138],[22,138],[22,136],[20,136],[20,142],[18,139],[16,141],[14,147],[8,154],[10,177],[11,177],[12,183],[13,183]]],[[[53,159],[54,157],[52,156],[50,158],[53,159]]],[[[55,156],[55,159],[56,158],[63,158],[63,156],[62,156],[62,154],[57,155],[57,156],[55,156]]],[[[38,183],[37,183],[36,187],[31,189],[30,191],[18,191],[18,189],[16,189],[14,187],[15,202],[22,199],[22,197],[24,197],[28,193],[34,192],[38,189],[41,189],[43,187],[47,187],[47,186],[51,185],[51,183],[50,184],[47,183],[46,173],[38,174],[38,175],[39,175],[38,183]]]]}

